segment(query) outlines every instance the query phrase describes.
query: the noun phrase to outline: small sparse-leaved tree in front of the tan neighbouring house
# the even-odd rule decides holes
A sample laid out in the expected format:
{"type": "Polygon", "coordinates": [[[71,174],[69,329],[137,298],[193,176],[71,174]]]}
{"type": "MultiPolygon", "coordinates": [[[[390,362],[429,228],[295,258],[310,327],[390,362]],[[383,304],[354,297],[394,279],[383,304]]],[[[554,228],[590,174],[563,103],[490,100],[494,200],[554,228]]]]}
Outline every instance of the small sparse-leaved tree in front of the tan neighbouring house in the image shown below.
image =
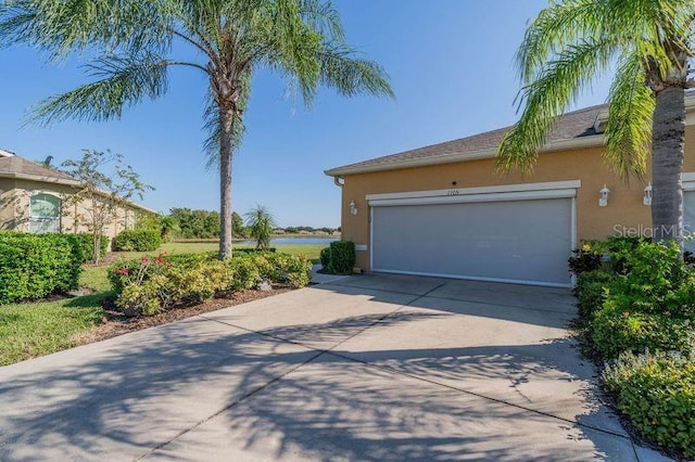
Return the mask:
{"type": "Polygon", "coordinates": [[[84,220],[92,234],[92,261],[98,264],[101,235],[116,220],[118,206],[134,196],[142,198],[146,191],[154,188],[142,183],[132,167],[123,164],[123,156],[111,151],[84,150],[80,159],[65,161],[61,171],[81,183],[67,201],[75,205],[75,221],[84,220]],[[105,174],[103,170],[110,164],[111,171],[105,174]]]}

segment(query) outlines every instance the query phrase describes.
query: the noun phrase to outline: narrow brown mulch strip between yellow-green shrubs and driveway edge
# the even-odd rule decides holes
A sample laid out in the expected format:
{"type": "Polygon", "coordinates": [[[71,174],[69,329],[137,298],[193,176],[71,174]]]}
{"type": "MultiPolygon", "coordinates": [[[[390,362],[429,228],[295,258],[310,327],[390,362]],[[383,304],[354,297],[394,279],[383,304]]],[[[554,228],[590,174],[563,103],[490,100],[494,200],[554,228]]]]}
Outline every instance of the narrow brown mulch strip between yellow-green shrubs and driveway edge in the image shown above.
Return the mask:
{"type": "Polygon", "coordinates": [[[210,301],[192,306],[178,306],[167,311],[150,317],[128,318],[123,312],[115,309],[113,300],[106,299],[104,303],[104,320],[101,324],[94,325],[87,332],[83,332],[75,337],[77,345],[86,345],[93,342],[104,341],[129,332],[166,324],[180,319],[190,318],[223,308],[229,308],[248,301],[258,300],[274,295],[289,292],[291,288],[283,285],[274,285],[271,291],[247,290],[229,294],[224,298],[214,298],[210,301]]]}

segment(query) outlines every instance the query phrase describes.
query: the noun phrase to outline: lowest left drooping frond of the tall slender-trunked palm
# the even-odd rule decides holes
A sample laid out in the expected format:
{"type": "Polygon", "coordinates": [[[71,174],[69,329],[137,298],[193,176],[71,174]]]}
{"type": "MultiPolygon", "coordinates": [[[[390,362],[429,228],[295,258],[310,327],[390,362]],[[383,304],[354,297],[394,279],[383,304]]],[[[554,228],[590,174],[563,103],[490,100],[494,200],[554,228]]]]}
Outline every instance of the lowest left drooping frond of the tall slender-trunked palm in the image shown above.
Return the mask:
{"type": "Polygon", "coordinates": [[[97,121],[121,117],[124,107],[166,92],[168,66],[169,62],[152,53],[104,56],[87,66],[98,80],[40,102],[30,111],[29,120],[49,124],[71,117],[97,121]]]}

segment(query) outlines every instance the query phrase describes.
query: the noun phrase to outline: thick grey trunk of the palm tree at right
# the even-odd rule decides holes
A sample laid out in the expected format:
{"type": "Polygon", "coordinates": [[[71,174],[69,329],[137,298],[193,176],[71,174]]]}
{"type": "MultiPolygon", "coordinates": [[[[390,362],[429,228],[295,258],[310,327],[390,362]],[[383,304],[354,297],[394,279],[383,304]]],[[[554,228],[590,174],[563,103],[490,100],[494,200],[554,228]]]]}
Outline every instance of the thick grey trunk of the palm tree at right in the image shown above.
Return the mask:
{"type": "Polygon", "coordinates": [[[652,226],[654,241],[683,242],[683,146],[685,90],[667,87],[656,93],[652,129],[652,226]]]}

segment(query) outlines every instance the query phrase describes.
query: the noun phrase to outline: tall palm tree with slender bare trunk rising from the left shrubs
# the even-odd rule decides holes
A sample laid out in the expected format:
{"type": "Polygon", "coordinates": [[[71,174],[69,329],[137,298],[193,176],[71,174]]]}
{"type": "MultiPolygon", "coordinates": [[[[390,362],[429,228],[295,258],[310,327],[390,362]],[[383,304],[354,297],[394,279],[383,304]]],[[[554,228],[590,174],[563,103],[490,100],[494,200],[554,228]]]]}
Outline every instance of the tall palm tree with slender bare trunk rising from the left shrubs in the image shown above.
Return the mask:
{"type": "Polygon", "coordinates": [[[219,167],[219,257],[231,256],[232,154],[254,72],[268,68],[311,105],[319,85],[343,95],[393,97],[377,63],[349,47],[330,0],[5,0],[0,46],[28,43],[62,60],[98,49],[93,81],[49,98],[31,113],[46,123],[117,118],[127,106],[166,93],[167,72],[182,66],[208,81],[205,127],[219,167]],[[189,46],[195,60],[177,60],[189,46]]]}

